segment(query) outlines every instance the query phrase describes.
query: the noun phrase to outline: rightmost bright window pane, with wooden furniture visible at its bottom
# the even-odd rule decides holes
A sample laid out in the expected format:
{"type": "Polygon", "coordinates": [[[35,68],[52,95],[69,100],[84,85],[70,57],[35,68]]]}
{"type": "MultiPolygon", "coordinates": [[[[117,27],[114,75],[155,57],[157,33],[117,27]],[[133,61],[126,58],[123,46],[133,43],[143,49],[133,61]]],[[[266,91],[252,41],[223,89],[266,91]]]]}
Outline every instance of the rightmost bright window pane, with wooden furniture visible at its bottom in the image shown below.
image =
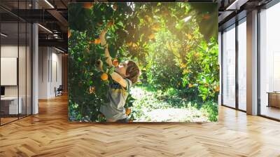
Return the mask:
{"type": "Polygon", "coordinates": [[[260,13],[260,114],[277,119],[280,119],[280,22],[276,20],[279,15],[280,3],[260,13]]]}

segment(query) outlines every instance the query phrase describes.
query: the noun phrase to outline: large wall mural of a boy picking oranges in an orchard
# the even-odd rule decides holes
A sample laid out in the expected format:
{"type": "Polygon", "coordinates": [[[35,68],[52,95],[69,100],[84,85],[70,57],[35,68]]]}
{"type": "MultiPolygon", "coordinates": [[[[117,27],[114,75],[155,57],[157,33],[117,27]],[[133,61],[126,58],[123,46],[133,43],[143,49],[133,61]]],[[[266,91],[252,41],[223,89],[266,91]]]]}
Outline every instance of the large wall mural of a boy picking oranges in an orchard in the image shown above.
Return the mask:
{"type": "Polygon", "coordinates": [[[218,121],[218,6],[69,4],[69,121],[218,121]]]}

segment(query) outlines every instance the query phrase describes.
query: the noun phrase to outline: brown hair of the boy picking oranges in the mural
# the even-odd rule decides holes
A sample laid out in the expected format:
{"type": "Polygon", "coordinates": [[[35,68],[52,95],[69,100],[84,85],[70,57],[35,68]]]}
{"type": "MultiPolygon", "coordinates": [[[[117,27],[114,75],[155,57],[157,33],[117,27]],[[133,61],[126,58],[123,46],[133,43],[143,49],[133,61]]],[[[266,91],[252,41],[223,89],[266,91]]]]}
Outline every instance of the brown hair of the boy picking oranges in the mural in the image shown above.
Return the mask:
{"type": "Polygon", "coordinates": [[[138,65],[132,60],[129,60],[127,62],[126,74],[128,75],[127,78],[130,79],[130,81],[132,81],[132,84],[137,83],[138,78],[140,76],[140,69],[138,65]]]}

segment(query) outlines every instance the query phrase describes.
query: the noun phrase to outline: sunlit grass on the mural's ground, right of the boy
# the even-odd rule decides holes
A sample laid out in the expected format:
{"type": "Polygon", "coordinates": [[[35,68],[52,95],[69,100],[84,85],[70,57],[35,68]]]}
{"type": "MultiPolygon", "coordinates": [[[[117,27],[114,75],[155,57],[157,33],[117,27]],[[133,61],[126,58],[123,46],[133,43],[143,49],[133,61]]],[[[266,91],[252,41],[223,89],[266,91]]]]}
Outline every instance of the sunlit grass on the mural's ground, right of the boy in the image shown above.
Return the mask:
{"type": "Polygon", "coordinates": [[[135,98],[132,107],[134,121],[206,122],[217,119],[216,103],[190,102],[179,97],[178,91],[173,88],[162,92],[149,86],[134,86],[131,94],[135,98]]]}

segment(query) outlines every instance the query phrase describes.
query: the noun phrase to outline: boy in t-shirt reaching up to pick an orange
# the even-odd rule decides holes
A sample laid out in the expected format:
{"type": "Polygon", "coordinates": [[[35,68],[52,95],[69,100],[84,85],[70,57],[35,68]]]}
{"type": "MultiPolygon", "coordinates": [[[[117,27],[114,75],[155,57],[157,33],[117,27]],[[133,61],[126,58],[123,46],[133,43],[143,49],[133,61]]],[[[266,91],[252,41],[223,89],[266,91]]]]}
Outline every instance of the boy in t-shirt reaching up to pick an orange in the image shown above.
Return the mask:
{"type": "MultiPolygon", "coordinates": [[[[140,69],[132,60],[121,62],[117,67],[114,67],[105,35],[106,30],[100,34],[99,38],[101,39],[102,46],[105,46],[106,63],[109,65],[109,75],[113,79],[113,83],[109,84],[109,91],[107,93],[109,102],[102,105],[100,111],[106,117],[107,122],[127,123],[125,102],[130,93],[131,86],[138,81],[140,69]]],[[[101,60],[99,60],[99,64],[102,64],[101,60]]]]}

